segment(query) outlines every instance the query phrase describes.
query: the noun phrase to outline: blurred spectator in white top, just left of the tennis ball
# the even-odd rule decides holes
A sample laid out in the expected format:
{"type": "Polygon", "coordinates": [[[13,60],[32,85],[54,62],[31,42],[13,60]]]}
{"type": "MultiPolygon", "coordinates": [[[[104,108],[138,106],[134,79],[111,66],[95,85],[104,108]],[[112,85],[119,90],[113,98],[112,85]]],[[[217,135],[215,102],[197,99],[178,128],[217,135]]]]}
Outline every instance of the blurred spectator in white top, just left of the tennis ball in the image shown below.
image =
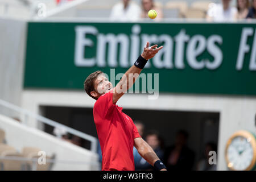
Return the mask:
{"type": "Polygon", "coordinates": [[[137,21],[141,15],[141,8],[130,0],[122,0],[112,8],[110,13],[111,20],[117,21],[137,21]]]}

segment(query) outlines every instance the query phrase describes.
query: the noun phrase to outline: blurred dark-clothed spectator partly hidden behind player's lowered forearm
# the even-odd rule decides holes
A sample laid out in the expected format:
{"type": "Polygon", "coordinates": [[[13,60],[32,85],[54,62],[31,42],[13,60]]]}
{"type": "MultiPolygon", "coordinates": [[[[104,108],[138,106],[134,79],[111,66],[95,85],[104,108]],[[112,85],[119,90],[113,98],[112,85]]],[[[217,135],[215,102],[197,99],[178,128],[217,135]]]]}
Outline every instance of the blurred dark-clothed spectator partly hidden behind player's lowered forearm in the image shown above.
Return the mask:
{"type": "MultiPolygon", "coordinates": [[[[152,147],[152,149],[155,151],[156,155],[158,155],[160,160],[163,160],[163,150],[160,147],[160,137],[159,134],[156,131],[149,132],[146,137],[146,142],[152,147]]],[[[135,170],[154,170],[154,167],[152,167],[149,163],[146,162],[143,158],[139,160],[137,163],[135,163],[135,170]]]]}

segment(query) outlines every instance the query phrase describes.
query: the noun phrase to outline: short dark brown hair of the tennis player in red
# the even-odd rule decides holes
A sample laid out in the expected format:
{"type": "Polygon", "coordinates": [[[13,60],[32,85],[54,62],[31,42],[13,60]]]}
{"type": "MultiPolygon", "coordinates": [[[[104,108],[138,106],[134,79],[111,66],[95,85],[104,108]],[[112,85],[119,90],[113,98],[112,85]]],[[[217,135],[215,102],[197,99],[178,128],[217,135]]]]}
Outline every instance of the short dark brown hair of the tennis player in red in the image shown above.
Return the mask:
{"type": "Polygon", "coordinates": [[[102,71],[96,71],[93,73],[90,73],[90,75],[85,79],[84,81],[84,90],[85,92],[92,98],[94,98],[95,100],[97,100],[97,97],[93,97],[90,92],[95,91],[94,90],[94,81],[96,80],[96,78],[98,77],[98,75],[102,74],[102,71]]]}

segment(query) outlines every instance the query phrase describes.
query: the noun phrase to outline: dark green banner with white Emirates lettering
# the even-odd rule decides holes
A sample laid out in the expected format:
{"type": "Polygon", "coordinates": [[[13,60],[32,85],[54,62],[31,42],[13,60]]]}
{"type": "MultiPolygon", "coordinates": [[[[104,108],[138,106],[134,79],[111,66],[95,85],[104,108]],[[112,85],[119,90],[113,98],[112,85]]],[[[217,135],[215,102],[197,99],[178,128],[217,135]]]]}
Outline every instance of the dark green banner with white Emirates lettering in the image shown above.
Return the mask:
{"type": "Polygon", "coordinates": [[[142,71],[159,92],[256,95],[255,33],[249,23],[30,22],[24,88],[83,89],[97,70],[116,84],[148,41],[164,46],[142,71]]]}

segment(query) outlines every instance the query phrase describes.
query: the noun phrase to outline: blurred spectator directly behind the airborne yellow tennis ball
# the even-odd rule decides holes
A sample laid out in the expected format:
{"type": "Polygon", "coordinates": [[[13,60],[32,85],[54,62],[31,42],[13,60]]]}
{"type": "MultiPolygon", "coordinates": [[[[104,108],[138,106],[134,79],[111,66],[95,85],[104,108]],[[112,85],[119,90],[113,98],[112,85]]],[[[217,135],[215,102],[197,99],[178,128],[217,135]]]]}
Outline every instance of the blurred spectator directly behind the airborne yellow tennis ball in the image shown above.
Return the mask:
{"type": "Polygon", "coordinates": [[[155,10],[158,15],[154,20],[159,21],[163,18],[163,11],[160,9],[160,7],[156,7],[154,0],[142,0],[142,13],[141,13],[141,18],[148,18],[148,11],[150,10],[155,10]]]}

